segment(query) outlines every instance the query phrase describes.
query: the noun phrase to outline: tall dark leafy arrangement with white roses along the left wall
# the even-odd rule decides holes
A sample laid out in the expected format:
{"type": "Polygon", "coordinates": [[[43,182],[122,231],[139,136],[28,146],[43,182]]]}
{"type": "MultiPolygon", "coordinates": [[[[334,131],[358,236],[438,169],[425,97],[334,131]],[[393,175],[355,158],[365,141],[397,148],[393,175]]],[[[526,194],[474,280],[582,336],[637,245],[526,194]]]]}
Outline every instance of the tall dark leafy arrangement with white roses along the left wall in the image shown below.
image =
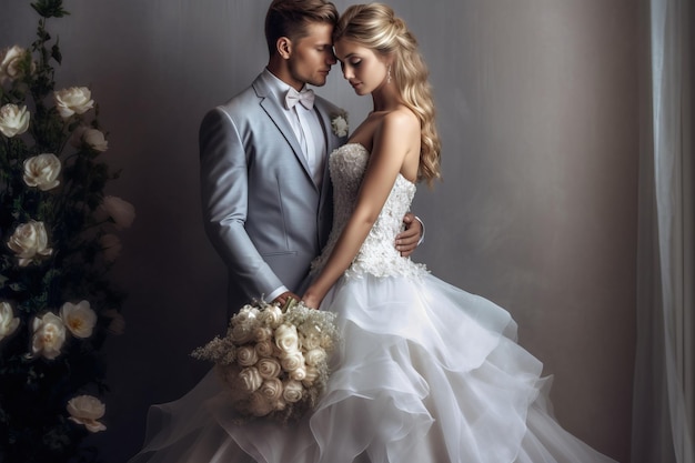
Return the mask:
{"type": "Polygon", "coordinates": [[[101,350],[122,332],[109,271],[134,219],[105,193],[108,132],[88,87],[56,89],[62,0],[31,3],[37,39],[0,51],[0,461],[99,461],[101,350]]]}

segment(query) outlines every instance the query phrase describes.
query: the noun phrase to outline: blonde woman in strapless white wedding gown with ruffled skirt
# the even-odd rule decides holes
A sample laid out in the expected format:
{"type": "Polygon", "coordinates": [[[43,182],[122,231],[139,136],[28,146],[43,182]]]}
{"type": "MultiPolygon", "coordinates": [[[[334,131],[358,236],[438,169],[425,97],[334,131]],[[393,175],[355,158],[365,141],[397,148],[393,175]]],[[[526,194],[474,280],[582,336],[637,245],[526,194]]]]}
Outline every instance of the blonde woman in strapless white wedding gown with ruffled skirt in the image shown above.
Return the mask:
{"type": "MultiPolygon", "coordinates": [[[[440,177],[440,140],[415,38],[379,3],[350,7],[336,58],[373,111],[330,157],[333,231],[306,305],[338,314],[343,343],[315,410],[283,426],[240,423],[209,374],[154,409],[150,462],[611,462],[548,412],[542,363],[491,301],[393,248],[416,183],[440,177]],[[154,423],[154,420],[158,420],[154,423]]],[[[150,459],[150,460],[148,460],[150,459]]]]}

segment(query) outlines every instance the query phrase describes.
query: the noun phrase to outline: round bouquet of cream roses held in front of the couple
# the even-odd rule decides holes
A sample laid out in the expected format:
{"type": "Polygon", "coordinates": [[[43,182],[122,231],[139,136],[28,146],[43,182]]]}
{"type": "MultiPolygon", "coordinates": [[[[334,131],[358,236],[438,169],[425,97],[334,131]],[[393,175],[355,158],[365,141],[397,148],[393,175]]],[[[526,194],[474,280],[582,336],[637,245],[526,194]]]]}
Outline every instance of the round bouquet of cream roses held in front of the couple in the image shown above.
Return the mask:
{"type": "Polygon", "coordinates": [[[334,319],[294,300],[284,308],[244,305],[224,338],[192,355],[215,363],[240,415],[286,422],[313,409],[325,389],[338,342],[334,319]]]}

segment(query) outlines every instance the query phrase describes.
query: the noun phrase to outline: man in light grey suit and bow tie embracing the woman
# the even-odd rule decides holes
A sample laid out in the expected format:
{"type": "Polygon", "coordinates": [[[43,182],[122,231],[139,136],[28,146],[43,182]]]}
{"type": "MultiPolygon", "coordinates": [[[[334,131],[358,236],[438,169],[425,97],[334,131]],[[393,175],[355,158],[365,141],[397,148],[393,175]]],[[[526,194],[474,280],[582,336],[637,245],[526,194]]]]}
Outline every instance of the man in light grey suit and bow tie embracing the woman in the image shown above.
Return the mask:
{"type": "MultiPolygon", "coordinates": [[[[205,231],[229,270],[228,311],[254,299],[300,299],[331,230],[328,154],[345,143],[344,112],[306,90],[325,84],[335,6],[274,0],[265,17],[268,67],[251,87],[205,114],[199,134],[205,231]],[[335,125],[335,127],[332,127],[335,125]]],[[[422,225],[404,218],[403,255],[422,225]]]]}

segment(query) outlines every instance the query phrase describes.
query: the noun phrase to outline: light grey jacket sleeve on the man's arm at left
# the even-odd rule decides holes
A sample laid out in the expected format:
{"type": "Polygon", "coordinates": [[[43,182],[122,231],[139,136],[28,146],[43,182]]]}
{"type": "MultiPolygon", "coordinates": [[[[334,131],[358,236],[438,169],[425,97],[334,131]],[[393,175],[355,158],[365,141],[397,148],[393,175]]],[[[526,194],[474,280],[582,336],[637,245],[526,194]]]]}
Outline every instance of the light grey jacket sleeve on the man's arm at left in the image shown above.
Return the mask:
{"type": "Polygon", "coordinates": [[[203,118],[199,145],[205,232],[249,299],[268,295],[283,283],[244,229],[249,198],[246,153],[236,127],[221,108],[203,118]]]}

